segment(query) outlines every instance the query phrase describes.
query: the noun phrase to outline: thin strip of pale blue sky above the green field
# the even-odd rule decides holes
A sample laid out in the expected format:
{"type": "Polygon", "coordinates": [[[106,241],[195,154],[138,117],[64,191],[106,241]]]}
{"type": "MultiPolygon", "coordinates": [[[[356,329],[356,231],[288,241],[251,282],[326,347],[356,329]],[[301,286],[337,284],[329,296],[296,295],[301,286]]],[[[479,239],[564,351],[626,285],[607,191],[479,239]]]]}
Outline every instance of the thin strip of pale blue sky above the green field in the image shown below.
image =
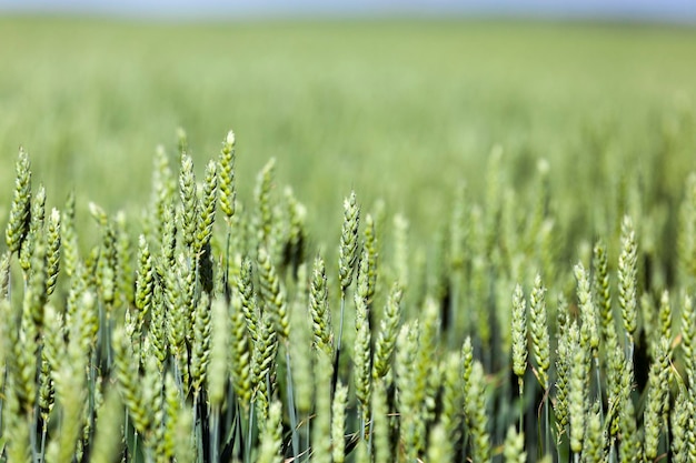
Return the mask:
{"type": "Polygon", "coordinates": [[[153,19],[493,14],[696,22],[696,0],[0,0],[0,14],[153,19]]]}

